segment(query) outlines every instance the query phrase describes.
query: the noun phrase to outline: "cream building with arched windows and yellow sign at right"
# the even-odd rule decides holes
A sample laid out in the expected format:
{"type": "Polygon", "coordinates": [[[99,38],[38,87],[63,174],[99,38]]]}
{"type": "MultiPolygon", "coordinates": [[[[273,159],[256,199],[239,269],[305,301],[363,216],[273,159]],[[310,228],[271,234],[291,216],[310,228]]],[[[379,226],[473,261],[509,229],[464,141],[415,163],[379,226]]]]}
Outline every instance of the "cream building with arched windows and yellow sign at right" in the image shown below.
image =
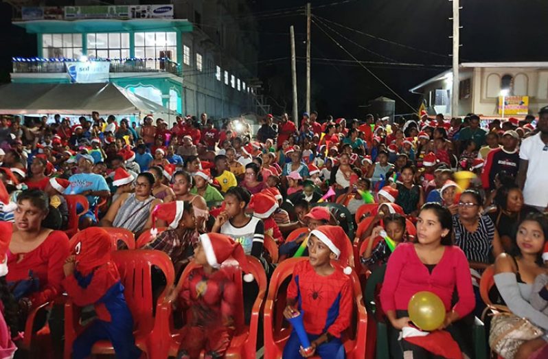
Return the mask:
{"type": "MultiPolygon", "coordinates": [[[[548,104],[548,62],[462,63],[459,115],[523,117],[548,104]],[[502,104],[505,104],[503,106],[502,104]]],[[[429,113],[451,113],[453,73],[448,70],[410,89],[422,95],[429,113]]]]}

